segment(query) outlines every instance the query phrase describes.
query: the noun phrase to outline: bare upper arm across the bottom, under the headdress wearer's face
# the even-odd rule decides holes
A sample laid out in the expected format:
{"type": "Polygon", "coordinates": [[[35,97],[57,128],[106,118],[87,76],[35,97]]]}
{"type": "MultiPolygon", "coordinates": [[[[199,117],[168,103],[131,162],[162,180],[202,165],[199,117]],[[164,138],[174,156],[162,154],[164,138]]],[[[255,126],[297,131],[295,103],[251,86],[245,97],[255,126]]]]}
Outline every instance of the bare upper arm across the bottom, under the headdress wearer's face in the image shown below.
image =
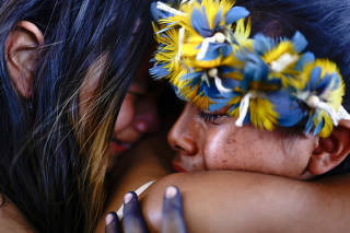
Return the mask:
{"type": "Polygon", "coordinates": [[[188,232],[345,232],[350,220],[349,205],[343,203],[349,202],[350,188],[341,184],[203,172],[166,176],[141,197],[152,232],[161,226],[163,194],[168,185],[182,191],[188,232]]]}

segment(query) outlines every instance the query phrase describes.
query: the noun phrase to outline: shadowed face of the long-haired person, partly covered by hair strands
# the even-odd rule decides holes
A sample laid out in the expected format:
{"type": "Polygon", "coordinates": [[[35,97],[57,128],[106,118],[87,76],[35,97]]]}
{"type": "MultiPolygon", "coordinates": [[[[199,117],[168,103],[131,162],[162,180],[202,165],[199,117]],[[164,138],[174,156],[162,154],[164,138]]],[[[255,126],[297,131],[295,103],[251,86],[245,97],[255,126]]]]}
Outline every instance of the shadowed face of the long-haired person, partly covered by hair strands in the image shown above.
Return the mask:
{"type": "MultiPolygon", "coordinates": [[[[149,58],[140,67],[127,91],[115,121],[113,139],[109,142],[110,154],[119,154],[129,149],[143,135],[154,132],[160,127],[155,100],[148,89],[151,79],[148,73],[149,58]]],[[[90,98],[98,85],[98,73],[84,80],[80,92],[80,115],[86,114],[90,98]]]]}

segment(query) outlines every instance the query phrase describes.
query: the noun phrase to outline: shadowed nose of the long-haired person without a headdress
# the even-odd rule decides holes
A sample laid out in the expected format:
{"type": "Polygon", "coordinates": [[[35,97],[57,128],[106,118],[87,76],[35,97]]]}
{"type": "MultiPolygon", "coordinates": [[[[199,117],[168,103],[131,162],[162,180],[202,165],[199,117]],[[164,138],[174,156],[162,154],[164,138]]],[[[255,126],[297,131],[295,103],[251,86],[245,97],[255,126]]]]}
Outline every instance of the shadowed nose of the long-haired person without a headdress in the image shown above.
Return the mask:
{"type": "Polygon", "coordinates": [[[139,132],[155,132],[160,129],[160,117],[155,101],[144,97],[136,106],[133,128],[139,132]]]}

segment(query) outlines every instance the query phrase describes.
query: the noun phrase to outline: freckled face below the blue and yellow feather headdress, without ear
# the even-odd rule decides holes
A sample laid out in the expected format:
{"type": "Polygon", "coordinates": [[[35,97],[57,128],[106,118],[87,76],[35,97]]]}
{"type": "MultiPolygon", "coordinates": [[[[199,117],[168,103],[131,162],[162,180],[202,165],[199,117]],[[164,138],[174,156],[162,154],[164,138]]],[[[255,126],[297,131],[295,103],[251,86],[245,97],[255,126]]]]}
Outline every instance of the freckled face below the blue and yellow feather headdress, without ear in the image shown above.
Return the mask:
{"type": "Polygon", "coordinates": [[[235,118],[206,115],[191,104],[168,133],[177,151],[173,161],[178,172],[201,170],[250,171],[293,178],[307,178],[316,137],[285,136],[276,130],[235,126],[235,118]]]}

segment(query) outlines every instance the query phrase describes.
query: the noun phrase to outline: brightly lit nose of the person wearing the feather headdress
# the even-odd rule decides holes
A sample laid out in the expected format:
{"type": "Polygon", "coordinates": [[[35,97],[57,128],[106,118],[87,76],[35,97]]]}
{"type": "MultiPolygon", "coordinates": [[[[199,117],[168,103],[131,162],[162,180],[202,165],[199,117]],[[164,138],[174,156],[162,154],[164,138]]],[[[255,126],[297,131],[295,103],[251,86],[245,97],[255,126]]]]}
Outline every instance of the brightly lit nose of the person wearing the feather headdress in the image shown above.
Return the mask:
{"type": "Polygon", "coordinates": [[[187,104],[167,135],[170,145],[184,155],[196,155],[198,152],[192,112],[192,107],[187,104]]]}

